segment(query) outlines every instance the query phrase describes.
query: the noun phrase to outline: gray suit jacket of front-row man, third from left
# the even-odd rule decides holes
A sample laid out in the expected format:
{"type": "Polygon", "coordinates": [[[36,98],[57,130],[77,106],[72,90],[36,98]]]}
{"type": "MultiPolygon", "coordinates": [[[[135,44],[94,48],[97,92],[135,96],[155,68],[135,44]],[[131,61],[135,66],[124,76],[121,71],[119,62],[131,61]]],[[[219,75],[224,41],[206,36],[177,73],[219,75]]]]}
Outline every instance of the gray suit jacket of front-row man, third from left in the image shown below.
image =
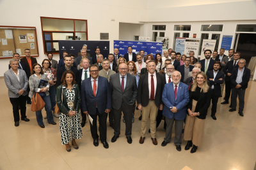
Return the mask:
{"type": "Polygon", "coordinates": [[[112,94],[112,108],[119,110],[124,102],[126,108],[133,108],[137,97],[136,78],[132,74],[127,74],[127,80],[124,92],[120,84],[120,74],[116,73],[110,76],[110,89],[112,94]]]}

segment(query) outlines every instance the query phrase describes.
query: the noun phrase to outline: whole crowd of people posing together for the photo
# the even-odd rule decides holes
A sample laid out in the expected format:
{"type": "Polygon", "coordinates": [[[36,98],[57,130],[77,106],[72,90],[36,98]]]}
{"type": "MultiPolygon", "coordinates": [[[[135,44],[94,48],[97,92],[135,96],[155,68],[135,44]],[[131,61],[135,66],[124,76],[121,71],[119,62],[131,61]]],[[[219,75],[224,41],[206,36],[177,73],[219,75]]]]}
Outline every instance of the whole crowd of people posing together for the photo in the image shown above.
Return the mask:
{"type": "MultiPolygon", "coordinates": [[[[84,45],[79,57],[63,52],[63,59],[59,62],[52,59],[52,53],[48,53],[48,59],[43,60],[42,66],[30,56],[29,49],[25,50],[26,57],[22,59],[19,53],[14,53],[10,68],[4,73],[4,81],[13,106],[15,126],[19,126],[19,110],[21,120],[29,121],[26,101],[38,93],[45,102],[44,117],[48,123],[56,125],[53,115],[59,118],[61,143],[68,152],[71,151],[70,142],[75,149],[79,148],[76,139],[83,136],[86,117],[90,120],[93,145],[99,146],[100,139],[104,148],[109,148],[107,118],[109,116],[109,125],[114,129],[111,142],[115,143],[120,136],[123,113],[125,136],[127,143],[131,144],[134,111],[137,109],[141,111],[140,144],[146,139],[150,118],[148,132],[152,143],[157,145],[156,128],[164,119],[166,136],[161,146],[170,143],[175,122],[176,149],[181,150],[184,132],[183,138],[188,141],[185,150],[193,146],[191,153],[194,153],[198,146],[202,146],[204,123],[211,101],[211,117],[216,120],[216,107],[224,82],[225,101],[221,104],[228,103],[232,90],[229,111],[236,111],[238,96],[238,113],[243,116],[250,69],[245,67],[246,60],[240,59],[239,52],[231,49],[225,56],[223,50],[220,49],[219,55],[214,51],[214,57],[211,50],[205,50],[205,59],[198,62],[192,51],[187,57],[169,49],[163,57],[161,53],[154,57],[151,54],[144,56],[143,50],[132,53],[129,46],[124,57],[118,55],[118,48],[115,48],[114,53],[109,53],[104,59],[100,48],[95,49],[96,56],[90,57],[84,45]],[[47,86],[39,88],[40,80],[48,81],[47,86]],[[60,115],[54,112],[56,106],[60,115]]],[[[41,110],[36,111],[36,120],[40,127],[45,127],[41,110]]]]}

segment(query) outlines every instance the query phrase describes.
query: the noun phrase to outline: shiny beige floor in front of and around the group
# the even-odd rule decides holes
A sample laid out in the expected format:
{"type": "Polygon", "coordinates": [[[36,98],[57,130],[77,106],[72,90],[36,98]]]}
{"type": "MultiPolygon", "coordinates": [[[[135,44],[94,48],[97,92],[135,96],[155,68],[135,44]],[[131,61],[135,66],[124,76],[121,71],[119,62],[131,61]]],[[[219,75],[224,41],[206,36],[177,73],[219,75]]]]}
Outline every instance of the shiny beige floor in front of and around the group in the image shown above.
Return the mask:
{"type": "MultiPolygon", "coordinates": [[[[163,122],[157,129],[158,145],[154,146],[147,132],[145,143],[140,139],[140,113],[136,111],[132,124],[132,144],[124,136],[125,124],[121,123],[121,135],[111,143],[113,129],[108,126],[109,149],[93,146],[89,122],[83,127],[83,138],[77,140],[79,150],[71,152],[61,145],[58,118],[57,125],[47,124],[45,129],[36,123],[35,113],[27,107],[30,122],[20,121],[14,126],[12,104],[8,98],[4,80],[0,79],[0,169],[245,169],[250,170],[256,161],[256,82],[250,81],[246,90],[244,117],[237,111],[228,112],[228,104],[218,104],[214,121],[207,115],[204,129],[204,145],[196,153],[177,152],[173,139],[167,146],[161,143],[165,131],[163,122]]],[[[211,109],[211,107],[210,107],[211,109]]],[[[210,110],[209,109],[209,110],[210,110]]],[[[44,111],[45,114],[45,111],[44,111]]],[[[148,124],[149,127],[149,124],[148,124]]],[[[174,131],[174,128],[173,128],[174,131]]],[[[174,133],[173,133],[174,136],[174,133]]]]}

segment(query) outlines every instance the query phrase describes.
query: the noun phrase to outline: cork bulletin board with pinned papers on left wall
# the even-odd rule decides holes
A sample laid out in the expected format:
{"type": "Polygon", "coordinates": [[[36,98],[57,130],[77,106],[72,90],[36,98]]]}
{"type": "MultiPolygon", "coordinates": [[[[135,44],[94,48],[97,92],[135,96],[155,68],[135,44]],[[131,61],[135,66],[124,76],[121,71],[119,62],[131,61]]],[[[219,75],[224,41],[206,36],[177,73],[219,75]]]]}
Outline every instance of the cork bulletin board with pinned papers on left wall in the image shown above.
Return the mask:
{"type": "Polygon", "coordinates": [[[0,59],[10,59],[13,53],[25,56],[30,49],[32,57],[38,57],[36,27],[13,27],[0,25],[0,59]]]}

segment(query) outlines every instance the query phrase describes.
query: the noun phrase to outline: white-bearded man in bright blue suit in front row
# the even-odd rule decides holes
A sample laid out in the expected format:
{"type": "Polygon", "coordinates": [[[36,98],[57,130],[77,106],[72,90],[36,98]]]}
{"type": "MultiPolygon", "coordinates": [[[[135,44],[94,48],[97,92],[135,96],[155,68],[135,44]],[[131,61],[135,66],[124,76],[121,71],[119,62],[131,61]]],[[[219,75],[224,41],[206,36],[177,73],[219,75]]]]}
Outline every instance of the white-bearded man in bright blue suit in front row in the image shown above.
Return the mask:
{"type": "Polygon", "coordinates": [[[172,126],[175,120],[174,144],[177,151],[181,151],[183,122],[186,118],[186,105],[189,103],[188,85],[180,82],[179,71],[172,73],[172,82],[164,85],[162,100],[163,115],[167,124],[166,134],[162,146],[166,146],[172,139],[172,126]]]}

